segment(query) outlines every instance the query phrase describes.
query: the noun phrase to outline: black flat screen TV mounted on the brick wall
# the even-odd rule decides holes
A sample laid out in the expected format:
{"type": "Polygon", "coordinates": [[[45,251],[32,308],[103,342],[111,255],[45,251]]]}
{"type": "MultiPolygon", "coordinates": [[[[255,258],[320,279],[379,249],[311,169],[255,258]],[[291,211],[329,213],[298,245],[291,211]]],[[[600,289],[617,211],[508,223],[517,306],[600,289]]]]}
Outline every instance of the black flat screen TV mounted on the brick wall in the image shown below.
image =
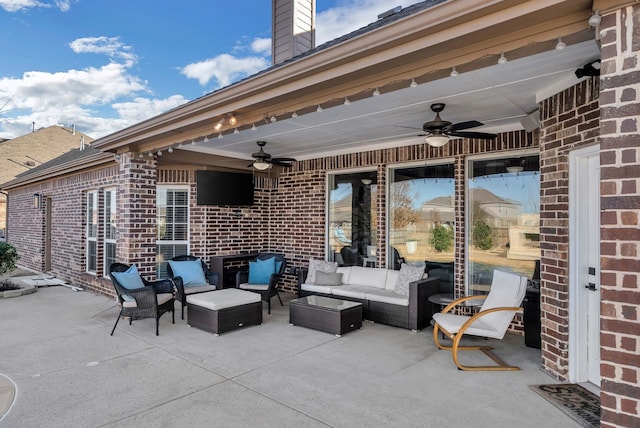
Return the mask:
{"type": "Polygon", "coordinates": [[[253,175],[196,171],[196,200],[198,205],[253,205],[253,175]]]}

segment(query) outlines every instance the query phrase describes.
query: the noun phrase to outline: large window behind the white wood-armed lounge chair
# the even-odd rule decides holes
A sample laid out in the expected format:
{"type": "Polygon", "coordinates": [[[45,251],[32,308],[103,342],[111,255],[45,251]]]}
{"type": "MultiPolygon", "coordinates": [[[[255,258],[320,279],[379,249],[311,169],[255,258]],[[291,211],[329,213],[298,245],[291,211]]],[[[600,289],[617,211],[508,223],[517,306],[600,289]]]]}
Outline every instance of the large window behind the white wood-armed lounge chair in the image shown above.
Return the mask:
{"type": "Polygon", "coordinates": [[[469,160],[467,287],[489,291],[498,268],[533,277],[540,259],[540,163],[536,155],[469,160]]]}

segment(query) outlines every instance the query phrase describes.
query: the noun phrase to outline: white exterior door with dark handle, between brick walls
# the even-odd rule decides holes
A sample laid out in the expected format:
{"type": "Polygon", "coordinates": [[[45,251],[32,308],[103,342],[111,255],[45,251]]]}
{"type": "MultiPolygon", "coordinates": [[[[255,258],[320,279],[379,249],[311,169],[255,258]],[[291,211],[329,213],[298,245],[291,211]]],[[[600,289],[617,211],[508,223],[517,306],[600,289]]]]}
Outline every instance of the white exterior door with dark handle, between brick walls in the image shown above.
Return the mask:
{"type": "Polygon", "coordinates": [[[600,386],[600,147],[569,155],[569,377],[600,386]]]}

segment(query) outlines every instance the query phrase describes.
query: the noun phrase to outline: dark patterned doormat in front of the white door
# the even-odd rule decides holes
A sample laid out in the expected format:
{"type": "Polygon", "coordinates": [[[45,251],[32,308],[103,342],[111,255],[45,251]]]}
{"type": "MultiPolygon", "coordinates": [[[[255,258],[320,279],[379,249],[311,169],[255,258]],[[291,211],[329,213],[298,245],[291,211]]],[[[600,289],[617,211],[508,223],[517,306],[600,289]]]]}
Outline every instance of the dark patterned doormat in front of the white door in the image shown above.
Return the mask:
{"type": "Polygon", "coordinates": [[[531,385],[530,388],[584,427],[600,426],[600,398],[575,383],[531,385]]]}

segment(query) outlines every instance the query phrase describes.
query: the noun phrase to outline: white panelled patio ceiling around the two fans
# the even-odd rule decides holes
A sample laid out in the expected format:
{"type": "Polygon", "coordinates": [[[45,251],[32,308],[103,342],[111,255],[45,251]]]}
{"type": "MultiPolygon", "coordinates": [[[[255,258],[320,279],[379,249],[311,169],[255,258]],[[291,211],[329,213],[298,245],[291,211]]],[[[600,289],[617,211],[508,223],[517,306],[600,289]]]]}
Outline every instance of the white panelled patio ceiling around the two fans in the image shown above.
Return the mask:
{"type": "MultiPolygon", "coordinates": [[[[555,45],[555,40],[553,45],[555,45]]],[[[405,87],[378,96],[341,103],[323,111],[311,111],[298,117],[265,121],[257,129],[212,133],[208,141],[181,149],[244,159],[213,161],[213,164],[247,168],[256,141],[267,141],[266,151],[276,157],[298,160],[341,153],[353,153],[400,145],[421,144],[422,124],[435,114],[430,105],[446,103],[441,116],[453,123],[478,120],[483,127],[473,131],[504,132],[523,129],[521,120],[538,108],[538,102],[574,85],[575,70],[600,57],[593,40],[551,50],[533,56],[493,64],[457,77],[443,76],[417,87],[405,87]],[[415,129],[408,129],[415,128],[415,129]]],[[[201,157],[201,156],[200,156],[201,157]]],[[[193,160],[191,160],[192,162],[193,160]]]]}

